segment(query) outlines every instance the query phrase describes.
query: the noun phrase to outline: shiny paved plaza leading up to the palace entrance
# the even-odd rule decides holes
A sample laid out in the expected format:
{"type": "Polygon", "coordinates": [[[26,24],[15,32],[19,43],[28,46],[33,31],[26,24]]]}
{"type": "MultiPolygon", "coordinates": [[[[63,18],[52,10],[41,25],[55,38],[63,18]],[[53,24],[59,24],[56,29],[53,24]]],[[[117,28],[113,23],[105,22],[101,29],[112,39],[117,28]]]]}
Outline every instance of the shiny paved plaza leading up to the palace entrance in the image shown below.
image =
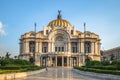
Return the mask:
{"type": "Polygon", "coordinates": [[[48,71],[16,80],[103,80],[80,75],[72,68],[49,68],[48,71]]]}

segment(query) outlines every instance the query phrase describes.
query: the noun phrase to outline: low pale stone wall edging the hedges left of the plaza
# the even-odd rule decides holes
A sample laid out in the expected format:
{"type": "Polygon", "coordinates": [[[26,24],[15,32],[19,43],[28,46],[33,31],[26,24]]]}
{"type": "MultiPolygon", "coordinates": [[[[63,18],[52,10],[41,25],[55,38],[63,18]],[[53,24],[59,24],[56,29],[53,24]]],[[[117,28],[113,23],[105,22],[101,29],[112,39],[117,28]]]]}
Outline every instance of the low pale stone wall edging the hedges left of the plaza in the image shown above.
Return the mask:
{"type": "Polygon", "coordinates": [[[33,74],[38,74],[43,71],[45,71],[45,69],[41,69],[37,71],[20,72],[20,73],[0,74],[0,80],[14,80],[17,78],[26,77],[26,76],[33,75],[33,74]]]}

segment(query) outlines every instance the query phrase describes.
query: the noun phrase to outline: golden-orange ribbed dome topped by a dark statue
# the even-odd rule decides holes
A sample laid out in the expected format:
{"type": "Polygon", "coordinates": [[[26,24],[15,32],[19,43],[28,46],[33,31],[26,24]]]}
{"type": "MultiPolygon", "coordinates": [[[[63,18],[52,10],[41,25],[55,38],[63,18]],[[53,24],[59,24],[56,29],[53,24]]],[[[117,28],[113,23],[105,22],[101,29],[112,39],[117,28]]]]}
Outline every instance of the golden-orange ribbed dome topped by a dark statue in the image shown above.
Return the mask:
{"type": "Polygon", "coordinates": [[[58,11],[59,14],[58,14],[57,19],[51,21],[51,22],[48,24],[48,26],[69,27],[69,26],[71,25],[68,21],[62,19],[60,12],[61,12],[61,11],[58,11]]]}

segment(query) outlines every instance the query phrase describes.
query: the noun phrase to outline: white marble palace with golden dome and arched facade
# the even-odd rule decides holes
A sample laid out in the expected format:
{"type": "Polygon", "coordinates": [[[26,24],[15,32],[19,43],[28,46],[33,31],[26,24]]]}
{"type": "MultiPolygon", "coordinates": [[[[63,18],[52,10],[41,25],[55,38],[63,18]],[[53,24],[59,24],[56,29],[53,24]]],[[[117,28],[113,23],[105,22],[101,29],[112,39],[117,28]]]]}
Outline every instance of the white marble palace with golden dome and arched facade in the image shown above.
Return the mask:
{"type": "Polygon", "coordinates": [[[43,31],[30,31],[20,38],[20,58],[32,60],[39,66],[82,66],[87,60],[100,61],[99,35],[76,30],[60,11],[56,20],[43,31]]]}

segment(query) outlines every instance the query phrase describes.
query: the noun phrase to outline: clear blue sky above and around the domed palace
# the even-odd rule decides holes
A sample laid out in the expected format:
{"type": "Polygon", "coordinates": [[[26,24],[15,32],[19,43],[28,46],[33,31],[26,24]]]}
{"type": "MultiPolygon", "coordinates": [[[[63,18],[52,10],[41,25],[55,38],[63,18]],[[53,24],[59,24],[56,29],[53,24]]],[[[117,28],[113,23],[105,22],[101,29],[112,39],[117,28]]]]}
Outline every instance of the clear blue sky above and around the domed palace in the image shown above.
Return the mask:
{"type": "Polygon", "coordinates": [[[101,49],[120,46],[120,0],[0,0],[0,55],[19,54],[20,35],[43,30],[57,11],[78,30],[97,33],[101,49]]]}

